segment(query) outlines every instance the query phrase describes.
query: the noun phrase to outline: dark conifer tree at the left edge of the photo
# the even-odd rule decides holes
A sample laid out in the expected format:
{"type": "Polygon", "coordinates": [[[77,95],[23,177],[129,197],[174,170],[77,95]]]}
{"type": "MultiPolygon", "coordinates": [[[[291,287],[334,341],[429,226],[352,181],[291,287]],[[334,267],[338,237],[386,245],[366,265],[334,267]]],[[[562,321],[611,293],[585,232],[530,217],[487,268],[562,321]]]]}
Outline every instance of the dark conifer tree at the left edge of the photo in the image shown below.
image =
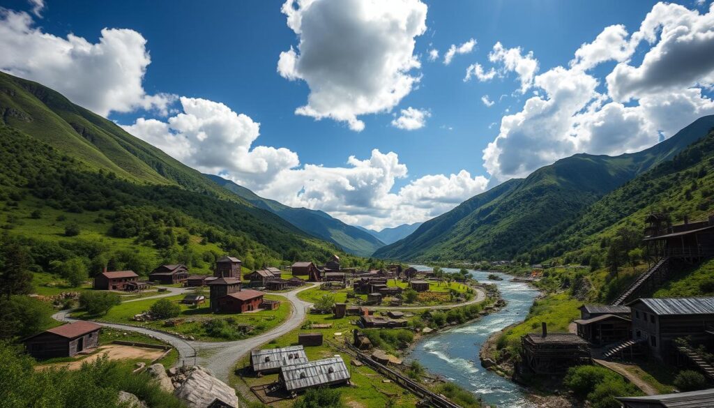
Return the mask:
{"type": "Polygon", "coordinates": [[[5,244],[0,254],[0,294],[6,299],[14,294],[32,292],[32,274],[29,272],[31,257],[20,244],[5,244]]]}

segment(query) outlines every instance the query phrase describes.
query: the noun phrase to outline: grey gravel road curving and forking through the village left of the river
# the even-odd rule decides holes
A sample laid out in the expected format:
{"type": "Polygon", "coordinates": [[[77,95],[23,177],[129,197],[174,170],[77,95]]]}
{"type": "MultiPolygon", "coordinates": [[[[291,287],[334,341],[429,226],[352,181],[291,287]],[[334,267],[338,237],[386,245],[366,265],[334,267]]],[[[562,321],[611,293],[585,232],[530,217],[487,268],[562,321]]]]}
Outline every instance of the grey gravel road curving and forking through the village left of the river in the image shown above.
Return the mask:
{"type": "MultiPolygon", "coordinates": [[[[291,292],[284,293],[274,293],[277,296],[285,297],[288,302],[291,303],[290,316],[283,322],[280,326],[274,327],[268,332],[259,334],[256,337],[250,337],[248,339],[236,340],[234,342],[198,342],[198,341],[188,341],[179,339],[171,334],[166,334],[164,332],[159,332],[152,329],[145,329],[144,327],[131,326],[129,324],[116,324],[116,323],[105,323],[105,322],[95,322],[104,327],[111,327],[113,329],[126,330],[130,332],[137,332],[141,334],[147,334],[153,336],[156,339],[160,339],[166,343],[174,346],[178,351],[178,361],[185,361],[186,364],[198,364],[206,369],[209,369],[213,375],[228,382],[228,377],[231,374],[231,370],[235,367],[236,362],[238,362],[243,355],[251,351],[251,349],[256,349],[260,347],[261,344],[265,344],[276,337],[281,337],[283,334],[287,334],[294,329],[297,329],[303,323],[305,316],[309,307],[310,302],[305,302],[297,297],[299,292],[303,290],[312,289],[317,287],[319,283],[308,284],[305,287],[293,290],[291,292]]],[[[141,300],[146,299],[156,299],[159,297],[169,297],[175,294],[181,294],[182,288],[167,288],[169,292],[166,294],[157,295],[155,297],[144,297],[141,300]],[[178,289],[178,290],[172,290],[178,289]]],[[[140,299],[131,299],[125,302],[134,302],[140,299]]],[[[54,319],[60,322],[76,322],[77,319],[72,319],[69,317],[69,313],[72,310],[63,310],[52,315],[54,319]]]]}

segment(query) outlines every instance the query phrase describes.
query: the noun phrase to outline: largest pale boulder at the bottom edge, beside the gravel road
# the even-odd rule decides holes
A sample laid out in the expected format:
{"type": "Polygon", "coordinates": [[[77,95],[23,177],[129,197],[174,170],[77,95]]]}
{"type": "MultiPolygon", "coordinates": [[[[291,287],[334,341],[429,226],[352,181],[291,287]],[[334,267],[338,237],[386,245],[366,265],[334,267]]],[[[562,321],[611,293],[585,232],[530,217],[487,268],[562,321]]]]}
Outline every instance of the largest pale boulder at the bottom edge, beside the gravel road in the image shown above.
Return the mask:
{"type": "Polygon", "coordinates": [[[229,407],[238,408],[236,390],[213,377],[203,367],[195,367],[187,374],[186,381],[174,392],[189,408],[205,408],[219,399],[229,407]]]}

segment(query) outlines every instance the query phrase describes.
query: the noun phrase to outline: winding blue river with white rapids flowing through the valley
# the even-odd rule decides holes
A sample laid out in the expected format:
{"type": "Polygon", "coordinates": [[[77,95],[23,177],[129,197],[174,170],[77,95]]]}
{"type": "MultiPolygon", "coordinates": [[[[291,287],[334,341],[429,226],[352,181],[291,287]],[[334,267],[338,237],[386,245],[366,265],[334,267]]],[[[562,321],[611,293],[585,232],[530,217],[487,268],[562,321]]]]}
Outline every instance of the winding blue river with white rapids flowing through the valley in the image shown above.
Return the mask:
{"type": "MultiPolygon", "coordinates": [[[[431,269],[423,265],[413,266],[421,270],[431,269]]],[[[458,271],[448,268],[443,270],[458,271]]],[[[526,399],[523,387],[483,368],[478,352],[491,333],[526,318],[538,291],[525,283],[509,282],[511,276],[506,274],[496,273],[503,280],[491,281],[488,280],[491,272],[469,272],[478,282],[496,284],[501,297],[508,302],[506,307],[473,323],[426,337],[418,342],[408,359],[418,360],[429,372],[446,377],[482,397],[488,404],[496,404],[499,408],[535,407],[526,399]]]]}

